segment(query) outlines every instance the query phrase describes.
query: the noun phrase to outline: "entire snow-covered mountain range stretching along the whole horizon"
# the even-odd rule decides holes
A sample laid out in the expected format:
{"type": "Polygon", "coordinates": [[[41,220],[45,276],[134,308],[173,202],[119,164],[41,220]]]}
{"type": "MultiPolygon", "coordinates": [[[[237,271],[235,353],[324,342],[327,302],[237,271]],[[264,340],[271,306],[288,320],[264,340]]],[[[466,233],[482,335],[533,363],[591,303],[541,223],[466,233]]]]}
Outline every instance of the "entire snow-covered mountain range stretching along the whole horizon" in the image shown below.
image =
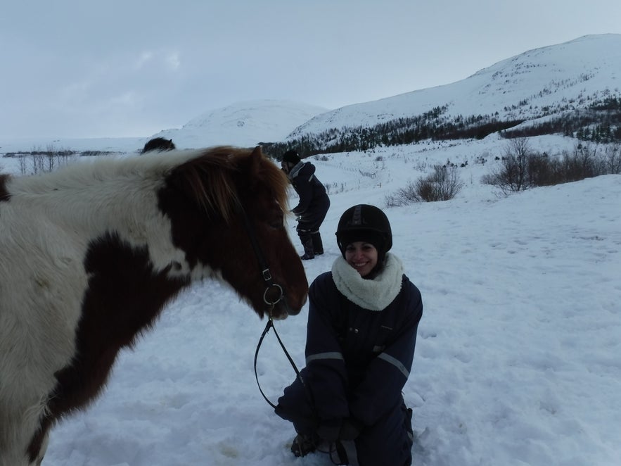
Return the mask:
{"type": "Polygon", "coordinates": [[[0,153],[34,147],[75,151],[139,151],[151,137],[173,139],[177,147],[217,144],[254,146],[332,128],[372,126],[445,108],[447,118],[488,115],[498,120],[530,122],[587,108],[595,101],[621,96],[621,34],[580,37],[563,44],[526,51],[452,84],[416,90],[332,111],[307,103],[258,100],[207,111],[179,129],[148,137],[103,139],[29,139],[0,141],[0,153]]]}

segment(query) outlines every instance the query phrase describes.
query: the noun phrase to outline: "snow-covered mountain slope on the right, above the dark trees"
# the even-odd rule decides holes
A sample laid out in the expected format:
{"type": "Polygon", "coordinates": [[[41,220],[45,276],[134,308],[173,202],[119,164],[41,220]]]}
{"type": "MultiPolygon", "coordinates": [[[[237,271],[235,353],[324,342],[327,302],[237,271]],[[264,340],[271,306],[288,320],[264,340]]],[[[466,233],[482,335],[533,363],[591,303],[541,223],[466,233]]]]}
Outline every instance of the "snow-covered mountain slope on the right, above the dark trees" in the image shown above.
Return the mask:
{"type": "Polygon", "coordinates": [[[447,107],[445,115],[531,120],[621,95],[621,34],[580,37],[521,53],[452,84],[316,115],[290,134],[372,126],[447,107]]]}

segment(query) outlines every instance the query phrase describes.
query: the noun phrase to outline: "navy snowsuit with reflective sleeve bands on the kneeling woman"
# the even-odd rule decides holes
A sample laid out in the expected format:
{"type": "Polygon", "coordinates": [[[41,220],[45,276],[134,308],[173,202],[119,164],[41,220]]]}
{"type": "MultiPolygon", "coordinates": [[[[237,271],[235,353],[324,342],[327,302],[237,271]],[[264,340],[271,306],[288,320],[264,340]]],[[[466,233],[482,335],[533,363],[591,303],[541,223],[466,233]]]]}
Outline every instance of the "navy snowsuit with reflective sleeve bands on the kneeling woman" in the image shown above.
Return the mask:
{"type": "Polygon", "coordinates": [[[332,272],[319,275],[309,289],[305,385],[296,379],[288,386],[276,414],[303,434],[353,419],[362,426],[359,465],[410,465],[411,411],[402,389],[422,313],[421,293],[405,275],[397,297],[379,312],[345,298],[332,272]]]}

